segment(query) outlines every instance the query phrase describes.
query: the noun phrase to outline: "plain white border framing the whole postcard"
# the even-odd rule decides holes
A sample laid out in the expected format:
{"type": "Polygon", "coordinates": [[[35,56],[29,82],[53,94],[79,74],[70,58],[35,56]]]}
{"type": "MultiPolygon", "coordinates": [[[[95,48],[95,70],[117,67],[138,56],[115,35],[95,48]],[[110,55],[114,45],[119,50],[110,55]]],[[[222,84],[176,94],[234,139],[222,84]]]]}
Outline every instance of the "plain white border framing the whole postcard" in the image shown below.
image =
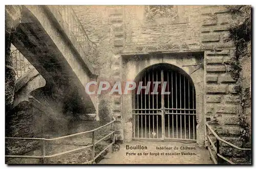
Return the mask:
{"type": "MultiPolygon", "coordinates": [[[[55,0],[55,1],[51,1],[51,0],[45,0],[43,2],[38,2],[38,1],[31,1],[31,0],[24,0],[22,2],[20,2],[20,0],[10,0],[10,1],[1,1],[1,17],[0,17],[0,23],[1,23],[1,26],[0,26],[0,36],[2,39],[1,41],[1,46],[2,46],[2,54],[1,54],[1,57],[0,57],[0,64],[1,64],[1,73],[0,73],[0,77],[1,77],[1,108],[2,108],[2,111],[1,111],[1,122],[0,124],[2,125],[1,126],[1,150],[0,150],[0,153],[1,153],[1,157],[0,157],[0,160],[1,160],[1,168],[6,168],[7,165],[5,164],[5,158],[4,158],[4,155],[5,155],[5,110],[4,110],[4,107],[5,107],[5,35],[4,35],[4,22],[5,22],[5,6],[4,5],[20,5],[20,4],[26,4],[26,5],[238,5],[241,3],[243,5],[252,5],[252,7],[254,7],[254,4],[255,4],[255,1],[248,1],[248,0],[243,0],[243,1],[223,1],[223,0],[215,0],[215,1],[198,1],[198,0],[194,0],[194,1],[162,1],[162,0],[158,0],[158,1],[135,1],[135,0],[130,0],[130,1],[99,1],[99,0],[94,0],[94,1],[75,1],[75,0],[72,0],[72,1],[65,1],[65,0],[55,0]],[[192,4],[193,3],[193,4],[192,4]],[[2,5],[3,4],[3,5],[2,5]]],[[[253,12],[254,13],[254,12],[253,12]]],[[[253,17],[253,21],[252,23],[254,22],[254,17],[253,17]]],[[[252,32],[254,33],[254,26],[253,26],[253,30],[252,32]]],[[[253,39],[254,39],[254,36],[253,36],[253,39]]],[[[253,43],[253,49],[254,49],[254,43],[253,43]]],[[[255,58],[253,60],[253,65],[255,65],[255,58]]],[[[255,68],[254,68],[255,70],[255,68]]],[[[253,74],[255,74],[255,71],[253,71],[253,74]]],[[[252,78],[253,79],[253,78],[252,78]]],[[[255,85],[255,83],[253,83],[255,85]]],[[[254,87],[254,86],[253,86],[254,87]]],[[[254,92],[253,92],[254,94],[254,92]]],[[[252,105],[256,105],[256,101],[255,99],[253,100],[253,103],[252,105]]],[[[252,112],[253,114],[253,112],[252,112]]],[[[255,117],[256,115],[253,116],[253,121],[255,122],[255,117]]],[[[252,123],[253,124],[253,123],[252,123]]],[[[254,125],[253,125],[253,129],[254,131],[254,125]]],[[[254,135],[254,133],[253,133],[254,135]]],[[[253,146],[255,145],[255,142],[254,142],[254,139],[253,139],[253,146]]],[[[253,154],[253,162],[255,162],[255,155],[253,154]]],[[[10,167],[10,166],[9,166],[10,167]]],[[[18,167],[27,167],[26,165],[25,166],[11,166],[12,168],[18,168],[18,167]]],[[[35,166],[31,166],[31,167],[35,167],[35,166]]],[[[54,165],[47,165],[47,166],[40,166],[40,167],[44,167],[44,168],[55,168],[55,167],[74,167],[72,165],[68,165],[68,166],[54,166],[54,165]]],[[[77,165],[76,165],[77,167],[77,165]]],[[[80,166],[80,167],[95,167],[95,166],[90,166],[90,165],[86,165],[86,166],[80,166]]],[[[97,166],[98,167],[98,166],[97,166]]],[[[113,166],[108,166],[108,165],[102,165],[101,167],[113,167],[113,166]]],[[[115,167],[123,167],[123,165],[120,165],[120,166],[115,166],[115,167]]],[[[127,167],[127,166],[126,166],[127,167]]],[[[156,166],[129,166],[129,167],[132,167],[132,168],[145,168],[145,167],[156,167],[156,166]]],[[[158,166],[157,166],[158,167],[158,166]]],[[[162,166],[162,167],[179,167],[179,168],[183,168],[183,167],[189,167],[189,168],[196,168],[196,167],[208,167],[208,166],[191,166],[191,165],[182,165],[182,166],[173,166],[173,165],[169,165],[169,166],[162,166]]],[[[210,166],[211,168],[224,168],[226,166],[210,166]]],[[[231,166],[228,166],[228,167],[231,167],[231,166]]],[[[239,166],[239,167],[245,167],[245,166],[239,166]]]]}

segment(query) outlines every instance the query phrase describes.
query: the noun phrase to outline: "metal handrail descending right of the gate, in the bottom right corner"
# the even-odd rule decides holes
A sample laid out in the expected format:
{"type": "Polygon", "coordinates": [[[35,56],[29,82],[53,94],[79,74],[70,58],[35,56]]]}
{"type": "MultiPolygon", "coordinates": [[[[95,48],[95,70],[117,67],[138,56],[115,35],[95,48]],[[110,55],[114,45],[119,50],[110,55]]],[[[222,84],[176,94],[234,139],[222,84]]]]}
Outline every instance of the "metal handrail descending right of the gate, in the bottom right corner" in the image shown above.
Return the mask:
{"type": "MultiPolygon", "coordinates": [[[[220,142],[223,142],[223,143],[225,143],[225,144],[227,144],[227,145],[229,145],[229,146],[231,146],[232,148],[235,148],[235,149],[237,149],[237,150],[251,151],[251,149],[250,149],[250,148],[241,148],[241,147],[238,147],[238,146],[236,146],[236,145],[233,145],[232,143],[227,142],[226,140],[222,139],[221,137],[219,137],[219,135],[218,135],[218,134],[211,128],[211,126],[209,125],[210,122],[214,122],[214,121],[216,121],[216,120],[217,120],[217,119],[211,120],[211,121],[209,121],[209,122],[206,122],[206,124],[205,124],[205,125],[206,125],[206,139],[209,140],[209,142],[210,142],[209,146],[206,145],[206,147],[208,147],[208,150],[209,150],[209,152],[210,152],[211,158],[212,158],[212,160],[214,160],[214,162],[215,162],[216,164],[218,164],[218,163],[220,162],[220,158],[221,158],[221,159],[224,159],[225,161],[227,161],[227,162],[230,163],[230,164],[235,164],[234,162],[232,162],[231,160],[225,158],[224,156],[222,156],[222,155],[220,154],[220,142]],[[209,134],[208,134],[208,130],[207,130],[207,129],[209,129],[210,132],[215,136],[217,146],[215,146],[215,143],[211,140],[211,138],[210,138],[210,136],[209,136],[209,134]],[[210,146],[212,146],[212,148],[214,149],[215,154],[216,154],[216,156],[217,156],[217,159],[214,157],[214,154],[212,153],[212,151],[211,151],[211,149],[210,149],[210,146]]],[[[208,142],[206,142],[206,143],[208,143],[208,142]]]]}

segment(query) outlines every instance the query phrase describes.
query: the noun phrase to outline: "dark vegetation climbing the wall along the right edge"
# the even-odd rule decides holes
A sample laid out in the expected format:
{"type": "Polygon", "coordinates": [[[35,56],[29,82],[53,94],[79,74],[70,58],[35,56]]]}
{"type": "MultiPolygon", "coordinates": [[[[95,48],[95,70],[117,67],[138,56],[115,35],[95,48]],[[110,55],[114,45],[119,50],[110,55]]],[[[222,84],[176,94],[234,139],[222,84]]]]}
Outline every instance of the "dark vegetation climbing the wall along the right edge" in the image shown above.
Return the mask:
{"type": "Polygon", "coordinates": [[[250,142],[250,126],[247,123],[247,116],[244,112],[245,102],[250,99],[250,89],[241,85],[243,75],[241,74],[241,59],[251,57],[251,7],[244,5],[228,6],[232,14],[230,25],[230,38],[236,47],[234,56],[231,59],[229,73],[232,78],[240,84],[242,96],[242,111],[239,113],[239,125],[241,126],[240,138],[244,143],[250,142]],[[249,92],[249,95],[248,95],[249,92]]]}

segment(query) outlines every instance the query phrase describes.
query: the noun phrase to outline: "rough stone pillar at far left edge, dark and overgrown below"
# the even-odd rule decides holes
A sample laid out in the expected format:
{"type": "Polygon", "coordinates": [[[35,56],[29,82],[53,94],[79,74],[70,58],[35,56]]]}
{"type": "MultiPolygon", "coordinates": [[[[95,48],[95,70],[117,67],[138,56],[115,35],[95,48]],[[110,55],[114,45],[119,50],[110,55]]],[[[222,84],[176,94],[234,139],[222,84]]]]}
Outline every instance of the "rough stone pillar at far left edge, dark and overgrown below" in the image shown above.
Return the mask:
{"type": "Polygon", "coordinates": [[[15,71],[12,66],[11,43],[21,21],[21,6],[5,6],[5,108],[12,108],[15,89],[15,71]]]}

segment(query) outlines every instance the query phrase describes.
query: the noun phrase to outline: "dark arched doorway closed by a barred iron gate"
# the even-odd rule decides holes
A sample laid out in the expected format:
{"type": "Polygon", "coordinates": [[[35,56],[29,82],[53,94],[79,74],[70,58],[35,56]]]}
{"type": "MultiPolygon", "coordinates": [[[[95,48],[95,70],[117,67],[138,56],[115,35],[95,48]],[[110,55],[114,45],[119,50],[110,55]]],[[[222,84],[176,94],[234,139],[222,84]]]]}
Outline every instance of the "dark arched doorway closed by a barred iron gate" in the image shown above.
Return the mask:
{"type": "Polygon", "coordinates": [[[135,81],[133,138],[196,141],[196,92],[187,73],[157,64],[144,69],[135,81]]]}

